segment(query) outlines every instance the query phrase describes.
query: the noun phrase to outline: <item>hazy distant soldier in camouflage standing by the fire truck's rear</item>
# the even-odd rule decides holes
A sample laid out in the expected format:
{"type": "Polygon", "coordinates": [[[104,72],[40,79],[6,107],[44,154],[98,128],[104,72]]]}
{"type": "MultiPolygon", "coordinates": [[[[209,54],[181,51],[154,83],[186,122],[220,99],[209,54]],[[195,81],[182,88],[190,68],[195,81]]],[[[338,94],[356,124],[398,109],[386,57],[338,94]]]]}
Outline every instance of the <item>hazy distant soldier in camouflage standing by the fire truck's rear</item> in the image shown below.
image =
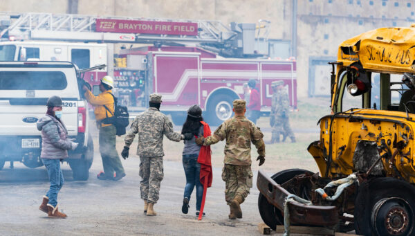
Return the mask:
{"type": "Polygon", "coordinates": [[[291,143],[295,143],[295,136],[293,130],[291,130],[290,121],[288,120],[290,99],[284,89],[284,82],[282,80],[274,81],[271,87],[273,88],[270,114],[270,125],[273,127],[271,143],[279,143],[279,136],[281,134],[283,136],[283,142],[288,136],[291,138],[291,143]]]}

